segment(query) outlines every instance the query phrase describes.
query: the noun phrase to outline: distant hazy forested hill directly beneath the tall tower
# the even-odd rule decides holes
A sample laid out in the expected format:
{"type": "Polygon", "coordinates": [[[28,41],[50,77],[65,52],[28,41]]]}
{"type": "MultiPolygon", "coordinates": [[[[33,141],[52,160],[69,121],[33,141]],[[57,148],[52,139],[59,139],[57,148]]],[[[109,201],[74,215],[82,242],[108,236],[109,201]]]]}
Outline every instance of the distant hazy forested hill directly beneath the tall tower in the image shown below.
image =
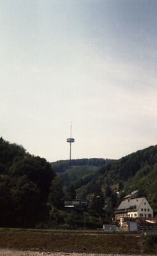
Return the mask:
{"type": "Polygon", "coordinates": [[[57,175],[61,176],[65,191],[72,185],[77,191],[78,198],[86,199],[87,184],[97,175],[101,166],[112,162],[103,158],[83,158],[73,160],[60,160],[51,165],[57,175]]]}

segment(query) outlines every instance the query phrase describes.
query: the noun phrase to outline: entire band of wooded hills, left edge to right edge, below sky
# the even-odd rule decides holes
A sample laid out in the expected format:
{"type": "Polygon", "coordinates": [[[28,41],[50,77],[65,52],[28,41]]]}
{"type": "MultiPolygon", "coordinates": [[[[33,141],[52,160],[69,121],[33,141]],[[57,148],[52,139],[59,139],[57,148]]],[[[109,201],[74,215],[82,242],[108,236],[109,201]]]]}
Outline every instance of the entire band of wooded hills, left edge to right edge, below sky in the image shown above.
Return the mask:
{"type": "Polygon", "coordinates": [[[0,138],[0,225],[101,228],[114,218],[125,194],[138,190],[157,213],[157,146],[119,160],[62,160],[50,164],[0,138]],[[52,167],[53,166],[53,167],[52,167]],[[57,175],[56,175],[56,173],[57,175]],[[119,192],[119,194],[117,194],[119,192]],[[87,209],[65,209],[64,200],[87,199],[87,209]]]}

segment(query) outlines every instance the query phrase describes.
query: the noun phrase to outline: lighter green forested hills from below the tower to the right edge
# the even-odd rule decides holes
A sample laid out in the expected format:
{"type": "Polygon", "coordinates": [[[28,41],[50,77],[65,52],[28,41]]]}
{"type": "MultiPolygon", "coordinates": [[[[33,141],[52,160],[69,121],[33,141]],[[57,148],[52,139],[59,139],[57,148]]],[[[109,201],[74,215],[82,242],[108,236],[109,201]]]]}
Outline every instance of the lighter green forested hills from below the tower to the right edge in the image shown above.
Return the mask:
{"type": "MultiPolygon", "coordinates": [[[[54,169],[55,164],[52,165],[54,169]]],[[[157,210],[157,145],[119,160],[107,160],[101,167],[90,166],[87,162],[78,166],[72,162],[70,166],[69,161],[61,164],[61,171],[56,171],[61,173],[66,187],[73,185],[80,198],[107,187],[112,191],[109,194],[115,196],[117,191],[123,196],[137,189],[138,195],[146,196],[153,209],[157,210]]]]}

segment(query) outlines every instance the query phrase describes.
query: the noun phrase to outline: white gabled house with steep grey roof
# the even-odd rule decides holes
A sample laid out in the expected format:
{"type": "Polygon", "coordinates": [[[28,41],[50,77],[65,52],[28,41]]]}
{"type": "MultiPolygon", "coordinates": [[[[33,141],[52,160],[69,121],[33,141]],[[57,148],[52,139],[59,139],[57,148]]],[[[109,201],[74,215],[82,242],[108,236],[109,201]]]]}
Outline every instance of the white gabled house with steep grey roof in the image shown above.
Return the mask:
{"type": "Polygon", "coordinates": [[[150,218],[153,217],[153,209],[149,205],[146,198],[135,198],[128,200],[123,200],[116,212],[116,219],[120,219],[122,217],[145,217],[150,218]]]}

